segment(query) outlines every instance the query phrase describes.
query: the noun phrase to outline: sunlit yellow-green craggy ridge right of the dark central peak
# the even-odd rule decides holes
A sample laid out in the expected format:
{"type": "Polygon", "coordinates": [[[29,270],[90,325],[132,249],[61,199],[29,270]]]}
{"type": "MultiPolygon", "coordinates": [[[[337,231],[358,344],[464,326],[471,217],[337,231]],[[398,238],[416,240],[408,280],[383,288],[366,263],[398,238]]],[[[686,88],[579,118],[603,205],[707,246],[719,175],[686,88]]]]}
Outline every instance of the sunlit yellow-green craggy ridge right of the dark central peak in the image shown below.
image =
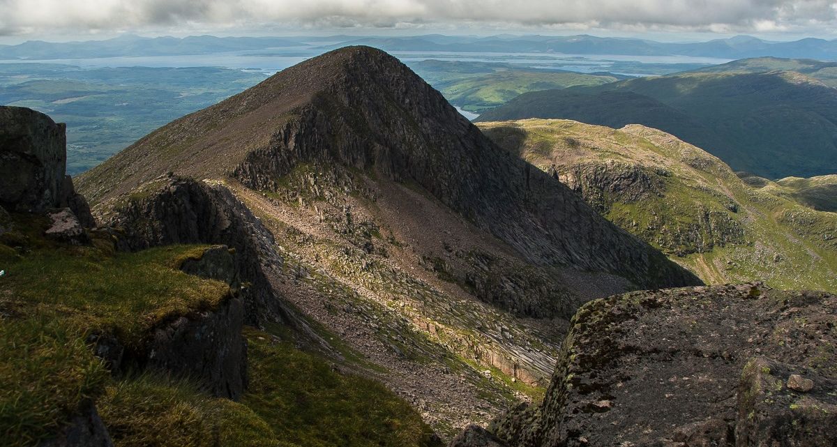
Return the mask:
{"type": "Polygon", "coordinates": [[[523,120],[480,127],[706,283],[837,290],[837,214],[747,186],[696,146],[644,126],[523,120]]]}

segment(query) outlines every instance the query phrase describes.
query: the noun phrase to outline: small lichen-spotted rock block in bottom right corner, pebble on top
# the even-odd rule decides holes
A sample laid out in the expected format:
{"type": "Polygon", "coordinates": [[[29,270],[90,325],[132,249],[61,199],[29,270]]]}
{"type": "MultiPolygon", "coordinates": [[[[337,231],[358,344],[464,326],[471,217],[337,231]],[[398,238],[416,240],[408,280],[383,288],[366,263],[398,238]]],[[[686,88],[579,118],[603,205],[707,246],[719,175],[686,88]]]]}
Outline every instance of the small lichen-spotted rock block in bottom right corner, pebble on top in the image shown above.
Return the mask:
{"type": "Polygon", "coordinates": [[[756,357],[738,388],[737,447],[837,445],[837,380],[756,357]],[[795,388],[795,389],[794,389],[795,388]]]}

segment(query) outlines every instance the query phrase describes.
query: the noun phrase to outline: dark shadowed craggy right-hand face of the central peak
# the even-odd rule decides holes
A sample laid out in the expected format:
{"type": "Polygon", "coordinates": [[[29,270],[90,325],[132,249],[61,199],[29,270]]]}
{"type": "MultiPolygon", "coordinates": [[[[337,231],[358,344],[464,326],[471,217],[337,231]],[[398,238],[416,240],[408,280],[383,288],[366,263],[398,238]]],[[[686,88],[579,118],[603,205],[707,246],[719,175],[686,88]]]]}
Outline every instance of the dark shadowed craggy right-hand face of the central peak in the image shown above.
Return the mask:
{"type": "Polygon", "coordinates": [[[604,271],[642,288],[701,284],[556,179],[496,146],[398,59],[350,47],[265,83],[293,84],[306,72],[331,78],[300,107],[299,119],[234,169],[250,188],[275,189],[300,162],[374,169],[417,182],[536,265],[604,271]]]}

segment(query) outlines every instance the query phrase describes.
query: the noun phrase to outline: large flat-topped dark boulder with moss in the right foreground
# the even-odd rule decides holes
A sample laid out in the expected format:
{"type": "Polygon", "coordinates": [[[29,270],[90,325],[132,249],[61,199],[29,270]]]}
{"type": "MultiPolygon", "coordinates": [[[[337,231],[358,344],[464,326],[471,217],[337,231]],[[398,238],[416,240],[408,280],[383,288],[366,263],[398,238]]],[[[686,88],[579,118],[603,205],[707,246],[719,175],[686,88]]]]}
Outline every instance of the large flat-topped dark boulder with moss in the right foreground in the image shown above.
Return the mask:
{"type": "Polygon", "coordinates": [[[526,446],[817,445],[811,439],[825,439],[827,415],[791,405],[833,405],[815,391],[816,383],[835,389],[835,326],[837,296],[758,285],[593,301],[573,319],[542,406],[512,411],[494,429],[526,446]],[[759,355],[788,364],[768,366],[781,383],[765,388],[768,373],[745,368],[759,355]],[[792,371],[813,379],[810,396],[788,391],[792,371]],[[778,437],[791,416],[796,444],[778,437]]]}

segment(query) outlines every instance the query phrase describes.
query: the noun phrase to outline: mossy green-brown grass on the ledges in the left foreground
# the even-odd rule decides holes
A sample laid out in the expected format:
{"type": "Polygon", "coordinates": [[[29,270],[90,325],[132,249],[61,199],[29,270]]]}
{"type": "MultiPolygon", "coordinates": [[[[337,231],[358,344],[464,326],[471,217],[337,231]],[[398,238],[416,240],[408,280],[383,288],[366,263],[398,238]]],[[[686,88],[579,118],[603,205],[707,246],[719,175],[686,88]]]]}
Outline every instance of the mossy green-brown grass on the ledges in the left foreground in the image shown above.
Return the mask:
{"type": "Polygon", "coordinates": [[[117,446],[438,442],[380,383],[254,329],[245,333],[249,389],[239,403],[158,374],[112,377],[85,342],[90,334],[110,333],[130,346],[159,322],[229,296],[228,285],[179,270],[207,247],[116,253],[106,234],[93,234],[92,246],[57,244],[41,236],[43,219],[12,219],[13,230],[0,235],[3,445],[39,444],[90,400],[117,446]]]}

